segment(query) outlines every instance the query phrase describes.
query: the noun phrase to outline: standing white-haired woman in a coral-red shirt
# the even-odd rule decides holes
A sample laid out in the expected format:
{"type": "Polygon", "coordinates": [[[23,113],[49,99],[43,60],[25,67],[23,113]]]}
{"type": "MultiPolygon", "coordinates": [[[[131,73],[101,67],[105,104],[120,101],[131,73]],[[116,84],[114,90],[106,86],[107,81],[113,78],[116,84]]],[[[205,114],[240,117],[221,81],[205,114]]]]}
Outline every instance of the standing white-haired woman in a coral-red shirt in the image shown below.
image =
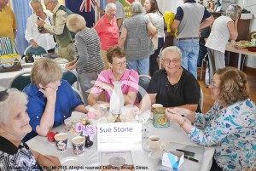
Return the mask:
{"type": "Polygon", "coordinates": [[[119,45],[119,27],[116,24],[116,5],[108,3],[104,16],[94,26],[102,43],[102,57],[105,69],[108,69],[107,50],[114,45],[119,45]]]}

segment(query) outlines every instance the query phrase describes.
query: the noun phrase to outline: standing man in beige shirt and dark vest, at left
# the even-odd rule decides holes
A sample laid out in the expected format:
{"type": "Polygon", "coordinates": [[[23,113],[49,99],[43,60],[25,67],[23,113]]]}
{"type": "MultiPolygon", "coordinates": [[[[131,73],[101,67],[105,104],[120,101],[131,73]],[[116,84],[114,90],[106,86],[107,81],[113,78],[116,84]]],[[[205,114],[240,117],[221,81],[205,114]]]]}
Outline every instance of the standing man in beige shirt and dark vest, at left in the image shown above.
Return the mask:
{"type": "Polygon", "coordinates": [[[61,5],[58,0],[44,0],[44,5],[53,13],[53,25],[46,24],[44,20],[38,20],[37,24],[55,35],[61,57],[71,62],[75,59],[74,34],[67,29],[66,21],[67,16],[73,12],[61,5]]]}

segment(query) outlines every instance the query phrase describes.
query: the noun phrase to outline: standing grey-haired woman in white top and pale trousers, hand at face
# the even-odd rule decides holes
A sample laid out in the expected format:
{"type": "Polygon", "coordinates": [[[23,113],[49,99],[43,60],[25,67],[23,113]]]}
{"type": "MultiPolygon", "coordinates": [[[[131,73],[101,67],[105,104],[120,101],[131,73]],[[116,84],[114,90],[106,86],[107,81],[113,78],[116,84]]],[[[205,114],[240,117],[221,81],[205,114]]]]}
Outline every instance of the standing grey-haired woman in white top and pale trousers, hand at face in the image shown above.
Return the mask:
{"type": "Polygon", "coordinates": [[[212,31],[207,39],[206,47],[209,57],[210,81],[215,71],[225,67],[224,53],[226,44],[236,43],[238,37],[237,23],[240,18],[241,7],[233,4],[226,9],[223,16],[218,17],[212,25],[212,31]]]}

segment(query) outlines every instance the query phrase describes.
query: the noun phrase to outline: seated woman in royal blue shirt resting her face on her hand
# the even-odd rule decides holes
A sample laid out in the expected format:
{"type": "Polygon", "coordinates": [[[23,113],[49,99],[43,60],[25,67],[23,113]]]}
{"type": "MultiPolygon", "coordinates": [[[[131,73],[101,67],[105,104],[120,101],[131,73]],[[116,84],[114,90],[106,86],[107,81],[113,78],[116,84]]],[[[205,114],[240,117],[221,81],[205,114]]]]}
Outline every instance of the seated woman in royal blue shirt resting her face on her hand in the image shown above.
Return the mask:
{"type": "Polygon", "coordinates": [[[73,111],[87,112],[73,88],[61,77],[61,66],[54,60],[41,58],[32,66],[32,83],[23,89],[28,96],[27,113],[32,126],[25,141],[36,135],[47,136],[51,128],[61,125],[73,111]]]}

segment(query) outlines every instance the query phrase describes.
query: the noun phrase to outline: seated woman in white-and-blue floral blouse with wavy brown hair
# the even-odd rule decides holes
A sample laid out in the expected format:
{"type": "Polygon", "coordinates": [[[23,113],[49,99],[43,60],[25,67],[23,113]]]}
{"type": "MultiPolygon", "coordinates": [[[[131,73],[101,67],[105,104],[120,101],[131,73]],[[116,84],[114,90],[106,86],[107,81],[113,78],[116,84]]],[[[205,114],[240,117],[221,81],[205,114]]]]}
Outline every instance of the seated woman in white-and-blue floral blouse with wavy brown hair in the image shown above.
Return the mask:
{"type": "Polygon", "coordinates": [[[246,74],[233,67],[219,69],[209,88],[215,103],[206,114],[177,107],[167,109],[166,116],[196,144],[215,147],[211,170],[251,168],[255,162],[256,105],[249,99],[246,74]]]}

